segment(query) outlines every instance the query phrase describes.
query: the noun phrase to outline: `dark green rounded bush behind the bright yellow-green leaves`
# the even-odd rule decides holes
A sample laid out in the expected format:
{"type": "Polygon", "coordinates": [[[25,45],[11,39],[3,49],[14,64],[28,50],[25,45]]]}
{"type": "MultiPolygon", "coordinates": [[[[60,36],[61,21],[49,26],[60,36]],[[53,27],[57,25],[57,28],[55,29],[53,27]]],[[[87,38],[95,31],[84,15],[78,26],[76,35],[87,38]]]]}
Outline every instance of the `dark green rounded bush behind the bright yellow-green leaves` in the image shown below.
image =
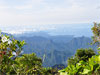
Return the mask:
{"type": "Polygon", "coordinates": [[[91,48],[78,49],[76,51],[75,56],[68,59],[68,65],[71,65],[71,64],[75,65],[81,60],[88,61],[88,59],[91,58],[93,55],[95,55],[95,52],[91,48]]]}

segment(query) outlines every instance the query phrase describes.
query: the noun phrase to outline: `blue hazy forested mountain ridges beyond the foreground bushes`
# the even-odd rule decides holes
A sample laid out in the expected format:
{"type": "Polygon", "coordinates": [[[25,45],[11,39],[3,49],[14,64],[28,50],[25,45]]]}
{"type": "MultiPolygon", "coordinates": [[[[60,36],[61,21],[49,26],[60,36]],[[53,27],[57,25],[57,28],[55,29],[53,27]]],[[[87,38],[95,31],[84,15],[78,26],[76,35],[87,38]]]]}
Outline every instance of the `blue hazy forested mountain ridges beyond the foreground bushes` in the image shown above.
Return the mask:
{"type": "Polygon", "coordinates": [[[79,48],[93,48],[95,45],[90,45],[91,38],[88,37],[74,37],[72,35],[58,35],[58,36],[21,36],[18,40],[25,40],[27,45],[24,46],[24,53],[35,52],[37,56],[41,57],[43,66],[50,67],[55,64],[67,64],[68,57],[75,54],[79,48]]]}

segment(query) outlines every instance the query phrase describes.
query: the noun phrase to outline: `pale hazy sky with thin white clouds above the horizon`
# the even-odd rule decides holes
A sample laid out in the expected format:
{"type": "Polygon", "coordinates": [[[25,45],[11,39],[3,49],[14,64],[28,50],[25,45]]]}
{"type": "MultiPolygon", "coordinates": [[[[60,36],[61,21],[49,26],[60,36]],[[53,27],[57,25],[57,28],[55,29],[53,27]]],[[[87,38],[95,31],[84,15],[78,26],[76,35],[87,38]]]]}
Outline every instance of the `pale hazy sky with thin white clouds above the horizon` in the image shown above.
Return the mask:
{"type": "Polygon", "coordinates": [[[0,26],[100,22],[100,0],[0,0],[0,26]]]}

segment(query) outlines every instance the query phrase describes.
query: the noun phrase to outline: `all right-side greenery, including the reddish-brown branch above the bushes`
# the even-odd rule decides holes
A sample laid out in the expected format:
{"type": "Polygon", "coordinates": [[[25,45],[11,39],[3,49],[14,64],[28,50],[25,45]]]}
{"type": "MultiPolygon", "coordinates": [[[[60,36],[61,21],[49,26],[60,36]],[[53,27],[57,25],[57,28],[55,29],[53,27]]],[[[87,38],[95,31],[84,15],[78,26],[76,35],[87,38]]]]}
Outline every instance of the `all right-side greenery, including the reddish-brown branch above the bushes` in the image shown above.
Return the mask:
{"type": "MultiPolygon", "coordinates": [[[[97,44],[98,50],[100,50],[100,24],[94,23],[92,31],[94,34],[93,44],[97,44]]],[[[100,51],[98,53],[100,54],[100,51]]],[[[100,55],[95,55],[91,49],[77,50],[75,57],[69,59],[69,61],[69,63],[72,63],[59,71],[61,75],[62,73],[63,75],[100,75],[100,55]]]]}

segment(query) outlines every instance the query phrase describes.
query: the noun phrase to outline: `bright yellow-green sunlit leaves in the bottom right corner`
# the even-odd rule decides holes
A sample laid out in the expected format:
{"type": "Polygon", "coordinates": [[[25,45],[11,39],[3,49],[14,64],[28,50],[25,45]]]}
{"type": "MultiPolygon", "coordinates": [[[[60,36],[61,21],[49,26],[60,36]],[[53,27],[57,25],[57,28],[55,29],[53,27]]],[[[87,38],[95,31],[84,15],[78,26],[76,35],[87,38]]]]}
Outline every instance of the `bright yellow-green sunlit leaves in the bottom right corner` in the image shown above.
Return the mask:
{"type": "Polygon", "coordinates": [[[76,65],[68,65],[60,72],[67,72],[68,75],[100,75],[100,55],[92,56],[87,62],[81,60],[76,65]]]}

